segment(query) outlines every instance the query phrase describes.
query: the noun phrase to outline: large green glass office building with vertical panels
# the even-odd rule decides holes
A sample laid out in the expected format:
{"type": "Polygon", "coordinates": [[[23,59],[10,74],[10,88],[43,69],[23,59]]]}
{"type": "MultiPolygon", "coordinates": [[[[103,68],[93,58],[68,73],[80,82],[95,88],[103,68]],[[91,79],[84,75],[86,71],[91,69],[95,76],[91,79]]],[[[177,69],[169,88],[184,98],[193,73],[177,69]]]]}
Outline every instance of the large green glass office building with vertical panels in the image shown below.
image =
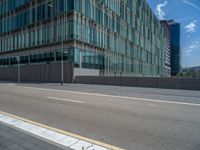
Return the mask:
{"type": "Polygon", "coordinates": [[[0,0],[1,67],[59,63],[62,40],[74,75],[165,75],[165,29],[146,0],[0,0]]]}

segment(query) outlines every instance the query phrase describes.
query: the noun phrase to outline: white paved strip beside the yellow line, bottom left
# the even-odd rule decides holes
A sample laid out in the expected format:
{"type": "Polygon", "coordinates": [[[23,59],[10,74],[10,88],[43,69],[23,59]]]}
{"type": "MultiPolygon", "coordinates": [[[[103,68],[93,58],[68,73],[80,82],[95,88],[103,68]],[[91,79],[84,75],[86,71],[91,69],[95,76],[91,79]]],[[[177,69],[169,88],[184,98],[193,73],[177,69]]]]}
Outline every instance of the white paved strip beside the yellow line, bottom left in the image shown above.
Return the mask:
{"type": "Polygon", "coordinates": [[[50,129],[46,129],[44,127],[33,125],[31,123],[13,118],[2,113],[0,113],[0,122],[74,150],[111,150],[103,146],[95,145],[90,142],[80,140],[78,138],[74,138],[50,129]]]}

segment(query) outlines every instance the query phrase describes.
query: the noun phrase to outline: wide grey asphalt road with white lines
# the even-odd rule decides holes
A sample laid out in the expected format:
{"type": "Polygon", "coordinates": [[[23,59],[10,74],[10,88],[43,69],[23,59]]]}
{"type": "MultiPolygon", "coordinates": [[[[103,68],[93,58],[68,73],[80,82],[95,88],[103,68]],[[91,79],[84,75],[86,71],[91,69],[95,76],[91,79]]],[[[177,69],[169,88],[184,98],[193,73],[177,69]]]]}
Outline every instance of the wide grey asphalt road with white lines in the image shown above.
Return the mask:
{"type": "Polygon", "coordinates": [[[0,84],[0,111],[129,150],[200,150],[200,91],[0,84]]]}

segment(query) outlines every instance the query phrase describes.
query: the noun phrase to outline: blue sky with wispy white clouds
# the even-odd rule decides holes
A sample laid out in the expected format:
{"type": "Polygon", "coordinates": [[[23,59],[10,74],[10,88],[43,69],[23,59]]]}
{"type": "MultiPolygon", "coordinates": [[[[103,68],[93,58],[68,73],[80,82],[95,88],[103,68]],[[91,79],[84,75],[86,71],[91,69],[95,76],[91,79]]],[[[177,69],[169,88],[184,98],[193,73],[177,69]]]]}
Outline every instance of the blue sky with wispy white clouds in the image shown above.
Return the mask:
{"type": "Polygon", "coordinates": [[[182,66],[200,66],[200,0],[147,0],[159,19],[181,23],[182,66]]]}

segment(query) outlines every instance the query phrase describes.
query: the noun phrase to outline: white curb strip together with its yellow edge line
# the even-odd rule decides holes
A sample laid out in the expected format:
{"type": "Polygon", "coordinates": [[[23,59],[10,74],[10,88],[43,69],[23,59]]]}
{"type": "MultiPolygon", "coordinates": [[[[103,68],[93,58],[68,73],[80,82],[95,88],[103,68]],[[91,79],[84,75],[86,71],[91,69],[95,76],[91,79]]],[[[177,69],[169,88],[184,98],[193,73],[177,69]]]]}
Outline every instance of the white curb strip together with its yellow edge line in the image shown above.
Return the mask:
{"type": "Polygon", "coordinates": [[[0,111],[0,122],[74,150],[124,150],[0,111]]]}

